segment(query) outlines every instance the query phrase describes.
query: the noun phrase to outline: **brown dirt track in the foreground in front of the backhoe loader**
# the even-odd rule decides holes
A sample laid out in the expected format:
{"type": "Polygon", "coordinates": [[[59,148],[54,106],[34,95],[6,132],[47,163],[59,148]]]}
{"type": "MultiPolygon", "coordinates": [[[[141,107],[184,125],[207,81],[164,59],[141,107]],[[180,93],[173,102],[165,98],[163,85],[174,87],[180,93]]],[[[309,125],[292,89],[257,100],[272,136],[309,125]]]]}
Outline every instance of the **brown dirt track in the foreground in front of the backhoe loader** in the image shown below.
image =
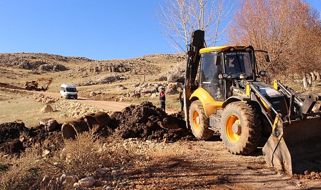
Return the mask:
{"type": "Polygon", "coordinates": [[[265,164],[261,148],[252,156],[230,154],[218,136],[140,146],[148,149],[149,161],[122,175],[135,178],[141,189],[321,189],[320,180],[276,173],[265,164]]]}

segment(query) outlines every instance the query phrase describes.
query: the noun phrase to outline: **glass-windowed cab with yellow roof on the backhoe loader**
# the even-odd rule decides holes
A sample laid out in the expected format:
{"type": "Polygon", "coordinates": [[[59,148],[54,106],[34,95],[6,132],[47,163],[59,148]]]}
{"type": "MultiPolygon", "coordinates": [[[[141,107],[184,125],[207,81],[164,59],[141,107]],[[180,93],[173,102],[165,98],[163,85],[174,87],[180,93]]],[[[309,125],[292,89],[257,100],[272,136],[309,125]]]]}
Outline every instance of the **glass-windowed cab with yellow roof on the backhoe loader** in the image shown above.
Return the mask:
{"type": "Polygon", "coordinates": [[[254,49],[251,46],[218,46],[200,49],[200,87],[215,101],[225,101],[232,96],[230,86],[240,81],[240,75],[247,80],[255,76],[254,49]],[[246,75],[245,75],[246,74],[246,75]]]}

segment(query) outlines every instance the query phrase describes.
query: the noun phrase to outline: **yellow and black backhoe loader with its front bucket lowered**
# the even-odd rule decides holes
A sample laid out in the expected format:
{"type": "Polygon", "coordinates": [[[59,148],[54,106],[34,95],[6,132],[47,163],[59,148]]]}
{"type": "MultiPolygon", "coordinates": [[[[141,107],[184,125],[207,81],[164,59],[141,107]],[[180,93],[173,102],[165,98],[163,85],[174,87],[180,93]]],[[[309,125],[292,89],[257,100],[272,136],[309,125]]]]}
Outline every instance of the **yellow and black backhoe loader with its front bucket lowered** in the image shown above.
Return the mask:
{"type": "MultiPolygon", "coordinates": [[[[188,45],[184,83],[187,127],[198,139],[220,133],[228,151],[248,155],[266,135],[265,161],[288,174],[301,173],[301,161],[320,159],[321,112],[312,111],[320,95],[293,93],[275,80],[260,81],[256,54],[250,45],[205,47],[204,31],[195,30],[188,45]]],[[[263,58],[264,59],[264,58],[263,58]]],[[[310,170],[321,170],[312,164],[310,170]]]]}

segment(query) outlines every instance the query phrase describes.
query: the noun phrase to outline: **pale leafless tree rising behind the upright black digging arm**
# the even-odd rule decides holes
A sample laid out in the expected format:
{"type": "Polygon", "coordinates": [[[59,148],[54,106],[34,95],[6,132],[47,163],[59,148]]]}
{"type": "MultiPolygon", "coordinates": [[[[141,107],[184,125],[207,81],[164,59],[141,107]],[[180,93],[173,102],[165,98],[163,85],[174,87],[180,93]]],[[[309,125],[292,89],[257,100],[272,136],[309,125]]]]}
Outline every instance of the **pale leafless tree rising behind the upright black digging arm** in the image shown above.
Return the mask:
{"type": "Polygon", "coordinates": [[[215,45],[222,38],[231,11],[230,0],[165,0],[155,10],[163,33],[178,51],[187,51],[188,40],[196,29],[202,29],[208,45],[215,45]]]}

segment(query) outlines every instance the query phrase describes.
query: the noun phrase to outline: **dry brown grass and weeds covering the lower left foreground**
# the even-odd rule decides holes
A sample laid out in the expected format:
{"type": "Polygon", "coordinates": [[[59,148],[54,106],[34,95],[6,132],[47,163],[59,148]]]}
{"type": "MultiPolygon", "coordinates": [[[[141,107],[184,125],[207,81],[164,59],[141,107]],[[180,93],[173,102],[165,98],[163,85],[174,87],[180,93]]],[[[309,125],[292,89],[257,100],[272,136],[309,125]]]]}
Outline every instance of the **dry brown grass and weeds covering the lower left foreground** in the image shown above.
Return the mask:
{"type": "MultiPolygon", "coordinates": [[[[66,140],[51,157],[42,157],[39,148],[27,148],[19,157],[0,155],[0,189],[40,189],[45,175],[57,177],[71,172],[78,179],[92,174],[97,168],[124,165],[135,161],[135,147],[115,143],[112,137],[84,132],[75,140],[66,140]]],[[[138,147],[136,147],[138,148],[138,147]]],[[[71,189],[73,184],[59,184],[60,189],[71,189]]]]}

